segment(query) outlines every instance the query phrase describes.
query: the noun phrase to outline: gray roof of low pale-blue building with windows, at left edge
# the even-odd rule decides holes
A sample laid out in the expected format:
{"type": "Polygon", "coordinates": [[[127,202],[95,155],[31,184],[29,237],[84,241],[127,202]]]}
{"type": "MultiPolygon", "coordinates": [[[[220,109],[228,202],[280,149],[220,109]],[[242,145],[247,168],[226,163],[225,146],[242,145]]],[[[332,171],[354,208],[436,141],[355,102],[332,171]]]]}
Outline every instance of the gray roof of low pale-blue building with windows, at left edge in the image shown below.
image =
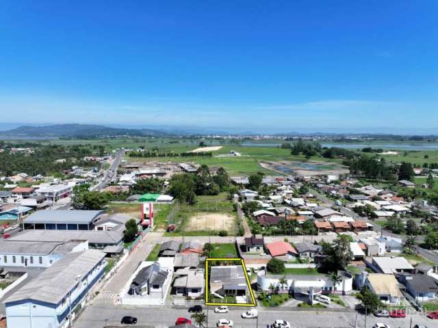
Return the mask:
{"type": "Polygon", "coordinates": [[[78,241],[54,242],[54,241],[0,241],[1,255],[48,255],[48,254],[68,254],[78,241]]]}

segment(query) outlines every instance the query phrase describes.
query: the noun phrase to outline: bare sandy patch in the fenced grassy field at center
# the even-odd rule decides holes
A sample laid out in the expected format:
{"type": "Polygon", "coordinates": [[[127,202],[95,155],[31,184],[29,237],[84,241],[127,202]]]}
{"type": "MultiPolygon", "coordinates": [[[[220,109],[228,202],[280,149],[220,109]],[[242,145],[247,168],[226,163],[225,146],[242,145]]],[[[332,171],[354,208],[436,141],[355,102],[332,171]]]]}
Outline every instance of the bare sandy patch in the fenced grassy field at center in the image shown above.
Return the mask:
{"type": "Polygon", "coordinates": [[[235,218],[221,213],[198,213],[188,220],[186,231],[197,230],[231,230],[235,218]]]}

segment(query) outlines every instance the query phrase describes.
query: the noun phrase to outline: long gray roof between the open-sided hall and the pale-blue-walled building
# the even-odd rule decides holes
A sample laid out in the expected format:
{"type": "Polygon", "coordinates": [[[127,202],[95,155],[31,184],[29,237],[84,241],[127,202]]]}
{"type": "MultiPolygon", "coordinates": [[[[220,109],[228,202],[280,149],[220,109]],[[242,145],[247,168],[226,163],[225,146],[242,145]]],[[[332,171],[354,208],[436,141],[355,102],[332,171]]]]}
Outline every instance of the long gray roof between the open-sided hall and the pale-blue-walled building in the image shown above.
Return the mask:
{"type": "Polygon", "coordinates": [[[93,244],[117,245],[123,240],[123,231],[96,230],[23,230],[9,241],[88,241],[93,244]]]}

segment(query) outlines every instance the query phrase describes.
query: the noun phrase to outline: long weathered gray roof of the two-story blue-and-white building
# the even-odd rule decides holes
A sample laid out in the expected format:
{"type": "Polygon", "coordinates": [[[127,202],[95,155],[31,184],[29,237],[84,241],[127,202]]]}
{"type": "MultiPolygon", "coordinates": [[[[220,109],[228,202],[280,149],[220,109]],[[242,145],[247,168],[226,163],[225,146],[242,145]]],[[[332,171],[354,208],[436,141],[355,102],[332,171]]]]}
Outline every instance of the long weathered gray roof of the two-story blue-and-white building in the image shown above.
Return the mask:
{"type": "Polygon", "coordinates": [[[103,258],[105,253],[96,249],[68,254],[14,292],[5,303],[33,299],[58,304],[103,258]]]}

